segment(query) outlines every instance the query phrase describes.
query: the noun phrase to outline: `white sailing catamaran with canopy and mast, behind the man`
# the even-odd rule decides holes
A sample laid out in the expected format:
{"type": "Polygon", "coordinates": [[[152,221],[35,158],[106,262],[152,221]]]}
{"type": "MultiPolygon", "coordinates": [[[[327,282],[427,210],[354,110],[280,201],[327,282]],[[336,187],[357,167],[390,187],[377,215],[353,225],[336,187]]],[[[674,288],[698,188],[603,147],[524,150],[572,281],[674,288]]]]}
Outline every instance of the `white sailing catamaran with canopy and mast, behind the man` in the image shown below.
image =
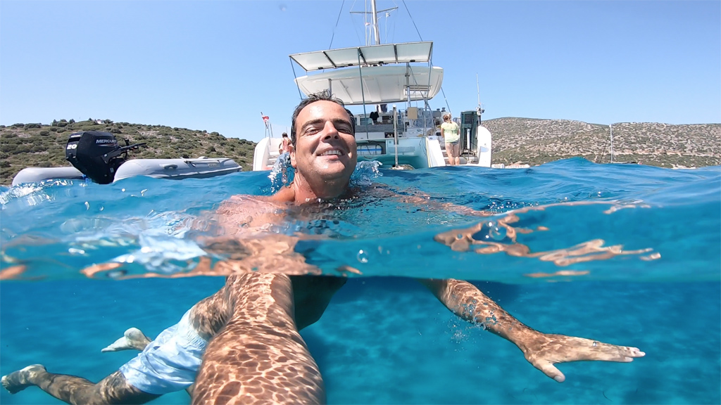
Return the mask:
{"type": "MultiPolygon", "coordinates": [[[[347,106],[364,106],[355,116],[358,161],[394,169],[446,166],[439,126],[446,111],[428,104],[443,82],[443,68],[431,63],[433,42],[380,44],[375,1],[371,8],[376,45],[290,55],[306,72],[296,85],[306,96],[327,91],[347,106]]],[[[480,125],[481,113],[479,106],[456,119],[461,163],[490,167],[491,134],[480,125]]],[[[253,170],[270,169],[278,156],[280,138],[267,135],[255,148],[253,170]]]]}

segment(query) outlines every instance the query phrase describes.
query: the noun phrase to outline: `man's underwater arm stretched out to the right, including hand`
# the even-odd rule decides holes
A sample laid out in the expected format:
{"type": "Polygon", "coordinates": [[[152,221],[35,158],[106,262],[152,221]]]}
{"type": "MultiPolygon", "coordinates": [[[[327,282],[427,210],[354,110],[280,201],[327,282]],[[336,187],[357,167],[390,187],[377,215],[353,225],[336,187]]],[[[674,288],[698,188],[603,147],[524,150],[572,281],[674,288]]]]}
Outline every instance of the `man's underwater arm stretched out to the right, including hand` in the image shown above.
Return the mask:
{"type": "Polygon", "coordinates": [[[616,346],[581,337],[544,334],[513,318],[475,285],[462,280],[419,279],[451,312],[465,321],[480,324],[516,344],[523,356],[549,378],[562,383],[566,378],[554,364],[580,360],[631,362],[643,357],[637,347],[616,346]]]}

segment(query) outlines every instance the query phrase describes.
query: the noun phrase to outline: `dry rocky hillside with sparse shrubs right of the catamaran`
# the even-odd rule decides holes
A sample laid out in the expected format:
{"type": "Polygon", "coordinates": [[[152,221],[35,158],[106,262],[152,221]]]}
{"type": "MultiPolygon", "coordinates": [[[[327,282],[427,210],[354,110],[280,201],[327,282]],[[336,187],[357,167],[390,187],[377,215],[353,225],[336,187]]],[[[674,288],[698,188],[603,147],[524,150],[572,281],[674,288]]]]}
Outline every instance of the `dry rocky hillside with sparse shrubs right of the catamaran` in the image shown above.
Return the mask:
{"type": "MultiPolygon", "coordinates": [[[[542,164],[583,156],[597,163],[611,161],[609,125],[571,120],[496,118],[483,121],[492,134],[492,162],[542,164]]],[[[613,125],[614,161],[662,167],[721,165],[721,124],[613,125]]]]}

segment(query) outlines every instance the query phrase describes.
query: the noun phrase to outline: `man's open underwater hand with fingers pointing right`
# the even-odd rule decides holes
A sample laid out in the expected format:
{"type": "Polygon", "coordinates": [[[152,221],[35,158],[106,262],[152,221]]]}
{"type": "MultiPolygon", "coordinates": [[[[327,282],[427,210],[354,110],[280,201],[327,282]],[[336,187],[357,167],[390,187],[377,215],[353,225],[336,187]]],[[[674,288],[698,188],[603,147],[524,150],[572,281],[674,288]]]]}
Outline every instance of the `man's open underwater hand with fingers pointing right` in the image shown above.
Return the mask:
{"type": "Polygon", "coordinates": [[[646,353],[637,347],[616,346],[583,339],[583,337],[565,336],[562,334],[544,334],[538,332],[533,339],[518,344],[526,360],[541,370],[549,378],[562,383],[566,377],[554,364],[582,360],[600,360],[607,362],[632,362],[635,357],[643,357],[646,353]]]}

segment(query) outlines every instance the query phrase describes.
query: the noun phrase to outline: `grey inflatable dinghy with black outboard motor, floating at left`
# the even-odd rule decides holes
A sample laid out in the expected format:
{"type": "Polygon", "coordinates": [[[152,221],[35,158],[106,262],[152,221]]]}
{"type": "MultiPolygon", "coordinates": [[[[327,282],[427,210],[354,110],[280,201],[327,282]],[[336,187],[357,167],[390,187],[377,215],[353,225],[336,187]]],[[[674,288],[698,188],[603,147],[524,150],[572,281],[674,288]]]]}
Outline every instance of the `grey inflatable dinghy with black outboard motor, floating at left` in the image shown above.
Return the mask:
{"type": "Polygon", "coordinates": [[[187,179],[221,176],[240,172],[242,167],[232,159],[131,159],[128,151],[145,145],[125,141],[118,146],[115,135],[109,132],[85,131],[68,138],[65,158],[73,167],[28,167],[12,179],[12,185],[42,182],[48,179],[85,179],[99,184],[110,184],[135,176],[157,179],[187,179]]]}

